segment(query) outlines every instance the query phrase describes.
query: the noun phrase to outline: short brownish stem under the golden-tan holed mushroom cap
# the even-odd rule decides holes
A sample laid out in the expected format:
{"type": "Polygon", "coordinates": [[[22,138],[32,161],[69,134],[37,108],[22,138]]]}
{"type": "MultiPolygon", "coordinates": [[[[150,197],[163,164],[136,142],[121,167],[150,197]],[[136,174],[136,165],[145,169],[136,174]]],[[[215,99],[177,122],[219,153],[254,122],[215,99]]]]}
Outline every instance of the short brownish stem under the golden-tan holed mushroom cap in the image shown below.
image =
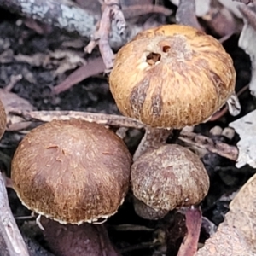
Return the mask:
{"type": "Polygon", "coordinates": [[[133,160],[137,160],[148,148],[155,148],[159,143],[166,143],[171,133],[172,129],[152,128],[147,126],[144,137],[133,155],[133,160]]]}

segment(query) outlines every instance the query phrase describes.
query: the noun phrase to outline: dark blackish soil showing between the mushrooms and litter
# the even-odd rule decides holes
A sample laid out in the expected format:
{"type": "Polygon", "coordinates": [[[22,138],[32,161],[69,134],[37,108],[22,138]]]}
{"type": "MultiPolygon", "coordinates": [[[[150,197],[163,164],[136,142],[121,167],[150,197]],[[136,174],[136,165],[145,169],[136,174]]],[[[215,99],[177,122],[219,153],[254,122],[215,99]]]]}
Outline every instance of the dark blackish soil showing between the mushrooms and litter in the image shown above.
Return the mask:
{"type": "MultiPolygon", "coordinates": [[[[79,55],[83,54],[84,45],[88,42],[84,38],[79,38],[76,34],[70,34],[61,31],[58,28],[50,28],[48,33],[40,35],[34,30],[25,25],[25,20],[20,16],[13,15],[6,10],[0,9],[0,87],[4,88],[9,84],[12,75],[22,74],[23,79],[15,84],[12,92],[25,98],[38,110],[79,110],[95,113],[119,113],[116,108],[113,97],[108,90],[108,81],[103,76],[98,76],[90,79],[85,79],[81,83],[75,85],[72,89],[61,93],[58,96],[51,95],[51,88],[55,84],[59,84],[67,77],[71,71],[62,73],[59,76],[53,75],[55,64],[48,67],[36,66],[26,61],[16,61],[14,58],[3,58],[4,55],[35,55],[38,53],[48,54],[49,51],[57,49],[67,50],[72,49],[79,55]],[[80,46],[68,47],[63,44],[67,41],[75,42],[79,40],[82,42],[80,46]],[[11,51],[11,53],[9,52],[11,51]]],[[[237,46],[238,36],[231,37],[224,43],[225,49],[232,56],[236,67],[236,90],[240,90],[250,81],[251,63],[248,55],[237,46]]],[[[74,45],[74,44],[73,44],[74,45]]],[[[99,55],[95,50],[90,58],[99,55]]],[[[240,97],[242,111],[241,115],[250,112],[256,108],[253,96],[246,91],[240,97]]],[[[196,132],[212,137],[210,130],[212,127],[219,125],[226,127],[230,121],[239,118],[234,118],[227,113],[223,118],[215,122],[207,122],[203,125],[195,127],[196,132]]],[[[15,152],[20,139],[25,132],[6,132],[3,140],[0,143],[0,152],[8,161],[1,162],[3,172],[8,172],[9,160],[15,152]]],[[[134,151],[139,139],[142,137],[143,131],[128,131],[125,137],[125,143],[131,150],[134,151]]],[[[214,136],[225,143],[236,145],[239,137],[236,135],[232,139],[228,139],[221,135],[214,136]]],[[[204,154],[202,160],[207,167],[211,179],[211,188],[207,198],[202,202],[203,216],[206,217],[215,226],[218,226],[224,220],[224,214],[229,211],[229,202],[233,192],[246,183],[249,177],[255,173],[255,170],[249,166],[241,169],[235,167],[235,163],[231,160],[224,159],[217,154],[204,154]]],[[[9,173],[8,173],[9,175],[9,173]]],[[[27,216],[30,217],[29,212],[20,204],[15,193],[9,189],[9,202],[15,217],[27,216]]],[[[170,212],[166,218],[159,221],[148,221],[139,218],[132,207],[131,195],[128,195],[125,204],[120,207],[119,212],[112,218],[108,219],[107,227],[110,239],[113,241],[124,256],[137,255],[164,255],[163,250],[166,249],[166,241],[168,241],[168,255],[176,255],[178,245],[182,241],[182,236],[173,237],[171,230],[177,229],[177,226],[182,226],[184,230],[184,220],[181,213],[170,212]],[[121,230],[123,224],[126,228],[121,230]],[[129,224],[129,225],[127,225],[129,224]],[[137,230],[131,227],[137,226],[137,230]],[[118,228],[119,227],[119,228],[118,228]],[[143,228],[148,228],[143,229],[143,228]],[[167,230],[166,240],[164,238],[164,230],[167,230]],[[169,230],[169,231],[168,231],[169,230]]],[[[32,228],[34,219],[19,220],[17,223],[20,230],[36,241],[42,247],[47,247],[42,231],[32,228]],[[27,230],[30,230],[28,232],[27,230]]],[[[208,224],[206,220],[206,224],[208,224]]],[[[202,229],[201,243],[203,243],[209,236],[209,230],[202,229]]],[[[1,255],[1,252],[0,252],[1,255]]]]}

